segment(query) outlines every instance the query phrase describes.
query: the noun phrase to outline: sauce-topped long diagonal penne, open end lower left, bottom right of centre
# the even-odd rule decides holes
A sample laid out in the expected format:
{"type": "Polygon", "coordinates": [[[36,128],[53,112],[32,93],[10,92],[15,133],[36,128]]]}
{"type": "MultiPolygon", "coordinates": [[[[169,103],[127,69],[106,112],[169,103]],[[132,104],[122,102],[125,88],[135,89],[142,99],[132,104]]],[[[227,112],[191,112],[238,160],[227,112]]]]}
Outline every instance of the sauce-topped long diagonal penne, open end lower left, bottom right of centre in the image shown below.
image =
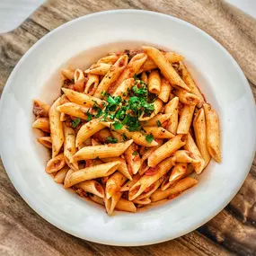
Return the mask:
{"type": "Polygon", "coordinates": [[[153,172],[152,175],[142,176],[128,191],[128,199],[134,200],[139,195],[141,195],[146,188],[150,187],[155,181],[159,180],[166,172],[168,172],[172,165],[175,163],[175,158],[170,157],[165,159],[162,163],[160,163],[157,167],[151,168],[153,172]]]}

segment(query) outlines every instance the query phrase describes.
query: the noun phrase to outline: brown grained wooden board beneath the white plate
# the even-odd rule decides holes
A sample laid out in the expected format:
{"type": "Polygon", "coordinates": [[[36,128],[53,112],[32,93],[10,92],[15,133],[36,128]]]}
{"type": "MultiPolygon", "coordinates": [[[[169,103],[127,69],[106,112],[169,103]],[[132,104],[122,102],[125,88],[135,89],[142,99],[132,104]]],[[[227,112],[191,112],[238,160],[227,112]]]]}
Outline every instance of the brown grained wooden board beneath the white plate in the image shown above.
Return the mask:
{"type": "MultiPolygon", "coordinates": [[[[15,31],[0,37],[0,90],[31,46],[62,23],[110,9],[171,14],[206,31],[242,67],[256,96],[256,21],[217,0],[50,0],[15,31]]],[[[178,239],[144,247],[113,247],[66,234],[37,215],[0,165],[0,255],[256,255],[256,161],[242,189],[206,225],[178,239]]]]}

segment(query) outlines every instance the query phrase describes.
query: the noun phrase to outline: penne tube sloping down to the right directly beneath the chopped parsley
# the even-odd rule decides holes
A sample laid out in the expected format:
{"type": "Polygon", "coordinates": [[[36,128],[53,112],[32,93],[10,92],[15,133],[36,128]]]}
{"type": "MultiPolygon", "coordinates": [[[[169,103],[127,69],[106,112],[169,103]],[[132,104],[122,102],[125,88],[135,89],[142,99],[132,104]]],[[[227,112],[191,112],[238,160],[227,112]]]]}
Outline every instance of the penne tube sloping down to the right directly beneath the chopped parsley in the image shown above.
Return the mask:
{"type": "MultiPolygon", "coordinates": [[[[102,122],[102,124],[106,127],[109,127],[111,129],[114,129],[114,127],[111,125],[110,122],[102,122]]],[[[134,140],[134,142],[137,144],[137,145],[140,145],[140,146],[148,146],[148,147],[151,147],[151,146],[157,146],[157,142],[155,140],[153,140],[152,142],[147,142],[146,141],[146,137],[138,132],[138,131],[128,131],[127,128],[125,127],[122,127],[120,129],[115,129],[115,131],[117,131],[119,134],[125,134],[126,137],[128,138],[132,138],[134,140]]]]}

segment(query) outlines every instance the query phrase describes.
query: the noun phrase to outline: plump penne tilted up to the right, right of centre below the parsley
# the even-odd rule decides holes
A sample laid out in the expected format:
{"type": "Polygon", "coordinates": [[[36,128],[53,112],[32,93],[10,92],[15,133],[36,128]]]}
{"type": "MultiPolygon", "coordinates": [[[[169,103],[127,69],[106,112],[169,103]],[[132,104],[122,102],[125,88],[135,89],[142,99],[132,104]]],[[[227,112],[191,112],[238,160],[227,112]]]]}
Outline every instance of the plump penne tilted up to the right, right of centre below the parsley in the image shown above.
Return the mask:
{"type": "Polygon", "coordinates": [[[184,146],[186,142],[182,135],[172,137],[170,140],[165,142],[163,146],[158,147],[153,154],[148,157],[147,164],[150,167],[156,166],[162,162],[163,159],[171,156],[176,150],[184,146]]]}

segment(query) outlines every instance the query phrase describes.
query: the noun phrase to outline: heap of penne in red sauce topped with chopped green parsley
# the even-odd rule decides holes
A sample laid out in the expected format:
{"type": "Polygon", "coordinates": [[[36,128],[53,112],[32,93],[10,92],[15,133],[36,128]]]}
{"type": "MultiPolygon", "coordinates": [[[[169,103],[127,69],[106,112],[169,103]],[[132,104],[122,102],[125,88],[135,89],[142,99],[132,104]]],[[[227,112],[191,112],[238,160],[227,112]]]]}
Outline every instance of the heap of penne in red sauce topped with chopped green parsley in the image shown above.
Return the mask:
{"type": "Polygon", "coordinates": [[[33,102],[45,170],[109,215],[174,199],[221,162],[216,110],[181,55],[145,46],[62,75],[56,101],[33,102]]]}

